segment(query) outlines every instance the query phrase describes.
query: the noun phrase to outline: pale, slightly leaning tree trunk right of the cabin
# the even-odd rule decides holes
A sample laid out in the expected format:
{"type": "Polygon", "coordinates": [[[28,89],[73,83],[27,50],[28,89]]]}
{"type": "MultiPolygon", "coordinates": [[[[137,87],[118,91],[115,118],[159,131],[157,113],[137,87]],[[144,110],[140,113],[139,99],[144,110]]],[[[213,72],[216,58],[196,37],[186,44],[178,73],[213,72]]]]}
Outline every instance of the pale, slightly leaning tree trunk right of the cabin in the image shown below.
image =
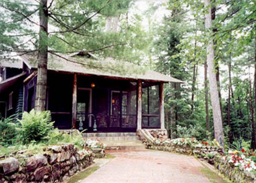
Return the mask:
{"type": "MultiPolygon", "coordinates": [[[[205,14],[205,28],[209,30],[212,28],[210,0],[204,0],[204,3],[205,3],[204,6],[208,11],[205,14]]],[[[221,146],[224,146],[221,106],[220,106],[220,99],[218,95],[217,79],[215,74],[213,39],[210,39],[207,44],[207,63],[208,63],[208,73],[209,73],[210,96],[211,96],[211,103],[212,103],[214,136],[216,141],[218,141],[218,143],[221,146]]]]}

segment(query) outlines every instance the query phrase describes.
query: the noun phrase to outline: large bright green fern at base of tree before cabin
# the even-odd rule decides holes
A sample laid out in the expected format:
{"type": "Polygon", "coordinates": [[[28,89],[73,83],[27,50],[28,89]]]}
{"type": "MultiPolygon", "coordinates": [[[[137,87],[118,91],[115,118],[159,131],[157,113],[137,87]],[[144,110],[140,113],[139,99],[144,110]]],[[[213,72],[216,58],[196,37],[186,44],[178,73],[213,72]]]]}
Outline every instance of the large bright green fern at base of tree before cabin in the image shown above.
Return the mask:
{"type": "Polygon", "coordinates": [[[31,110],[29,113],[24,112],[21,124],[20,141],[23,144],[38,143],[47,141],[49,133],[53,130],[50,111],[35,112],[31,110]]]}

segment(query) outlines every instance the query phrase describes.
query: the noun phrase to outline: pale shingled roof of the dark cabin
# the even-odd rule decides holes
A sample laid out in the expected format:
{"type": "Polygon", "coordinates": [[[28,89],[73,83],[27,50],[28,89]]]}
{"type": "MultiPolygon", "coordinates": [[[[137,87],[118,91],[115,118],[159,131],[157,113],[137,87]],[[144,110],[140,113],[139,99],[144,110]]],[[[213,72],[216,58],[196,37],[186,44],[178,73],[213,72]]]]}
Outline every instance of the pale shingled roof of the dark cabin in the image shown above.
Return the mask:
{"type": "MultiPolygon", "coordinates": [[[[78,56],[76,54],[69,56],[58,55],[59,56],[52,53],[48,54],[48,70],[120,79],[142,79],[156,82],[183,83],[183,81],[171,76],[145,69],[142,66],[130,62],[116,61],[113,58],[97,59],[90,54],[85,56],[78,56]],[[87,56],[90,56],[90,58],[87,56]]],[[[37,68],[36,56],[26,54],[17,58],[16,62],[12,61],[15,65],[21,65],[22,67],[20,62],[24,62],[30,69],[37,68]],[[19,62],[19,64],[17,62],[19,62]]],[[[10,63],[10,61],[8,62],[8,58],[4,59],[3,62],[1,61],[0,66],[5,66],[5,63],[10,63]]]]}

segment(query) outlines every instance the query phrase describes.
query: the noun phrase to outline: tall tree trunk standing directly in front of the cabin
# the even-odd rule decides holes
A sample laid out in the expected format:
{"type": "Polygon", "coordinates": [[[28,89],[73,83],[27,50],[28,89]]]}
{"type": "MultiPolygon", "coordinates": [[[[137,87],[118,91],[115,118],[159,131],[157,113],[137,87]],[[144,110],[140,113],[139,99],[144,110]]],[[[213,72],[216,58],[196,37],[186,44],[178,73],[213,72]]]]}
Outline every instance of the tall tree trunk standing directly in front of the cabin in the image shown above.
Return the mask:
{"type": "Polygon", "coordinates": [[[35,95],[35,111],[45,110],[48,57],[48,9],[47,0],[40,0],[40,31],[38,51],[38,77],[35,95]]]}

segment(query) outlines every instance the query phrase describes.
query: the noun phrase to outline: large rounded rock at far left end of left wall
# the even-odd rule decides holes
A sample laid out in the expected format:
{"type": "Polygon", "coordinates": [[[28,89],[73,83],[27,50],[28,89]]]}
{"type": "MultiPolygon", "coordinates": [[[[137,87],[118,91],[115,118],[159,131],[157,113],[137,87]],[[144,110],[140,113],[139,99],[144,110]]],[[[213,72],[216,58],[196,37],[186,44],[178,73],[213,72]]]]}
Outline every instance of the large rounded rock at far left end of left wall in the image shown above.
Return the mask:
{"type": "Polygon", "coordinates": [[[19,169],[19,165],[19,161],[13,157],[0,160],[0,172],[4,175],[16,172],[19,169]]]}

